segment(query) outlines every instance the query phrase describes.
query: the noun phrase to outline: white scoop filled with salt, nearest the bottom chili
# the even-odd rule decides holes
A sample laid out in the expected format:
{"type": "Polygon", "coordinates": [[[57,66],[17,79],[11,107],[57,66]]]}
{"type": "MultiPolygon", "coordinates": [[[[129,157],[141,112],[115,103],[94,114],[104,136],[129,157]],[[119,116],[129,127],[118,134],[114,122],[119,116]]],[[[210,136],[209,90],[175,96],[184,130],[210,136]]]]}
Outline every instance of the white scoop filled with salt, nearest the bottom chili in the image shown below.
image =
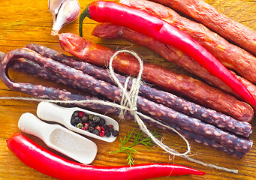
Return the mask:
{"type": "Polygon", "coordinates": [[[24,133],[38,136],[50,148],[80,163],[92,163],[97,154],[98,148],[95,142],[59,124],[48,124],[41,121],[32,113],[21,115],[18,126],[24,133]]]}

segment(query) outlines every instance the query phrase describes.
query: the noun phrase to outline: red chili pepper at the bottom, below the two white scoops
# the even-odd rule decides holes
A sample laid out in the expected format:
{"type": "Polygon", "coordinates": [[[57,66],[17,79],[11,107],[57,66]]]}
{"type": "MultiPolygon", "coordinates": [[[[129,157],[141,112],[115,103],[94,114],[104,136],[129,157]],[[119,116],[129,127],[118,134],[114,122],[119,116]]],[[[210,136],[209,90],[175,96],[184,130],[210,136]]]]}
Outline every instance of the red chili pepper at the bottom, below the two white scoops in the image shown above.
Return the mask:
{"type": "Polygon", "coordinates": [[[8,148],[27,166],[59,179],[147,179],[169,175],[204,175],[197,169],[168,163],[135,166],[90,166],[66,160],[33,142],[22,133],[7,140],[8,148]]]}

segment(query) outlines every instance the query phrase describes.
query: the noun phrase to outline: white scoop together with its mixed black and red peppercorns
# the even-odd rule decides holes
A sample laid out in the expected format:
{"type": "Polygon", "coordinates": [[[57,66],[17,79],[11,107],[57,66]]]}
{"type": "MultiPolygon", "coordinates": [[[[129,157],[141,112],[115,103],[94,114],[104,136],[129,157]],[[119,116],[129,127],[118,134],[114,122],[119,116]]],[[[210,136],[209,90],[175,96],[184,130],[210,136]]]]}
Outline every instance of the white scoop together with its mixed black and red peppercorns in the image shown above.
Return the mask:
{"type": "Polygon", "coordinates": [[[115,141],[119,135],[119,124],[113,118],[79,107],[67,108],[41,102],[37,114],[45,121],[57,122],[69,130],[106,142],[115,141]]]}

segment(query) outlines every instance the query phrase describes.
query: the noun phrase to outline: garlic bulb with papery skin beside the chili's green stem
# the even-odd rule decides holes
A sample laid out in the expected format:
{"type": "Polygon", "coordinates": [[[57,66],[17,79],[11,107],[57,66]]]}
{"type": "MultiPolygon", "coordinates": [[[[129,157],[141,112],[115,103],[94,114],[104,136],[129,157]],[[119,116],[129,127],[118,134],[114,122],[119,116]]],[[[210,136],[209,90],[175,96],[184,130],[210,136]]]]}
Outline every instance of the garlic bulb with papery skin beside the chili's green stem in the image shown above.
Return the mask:
{"type": "Polygon", "coordinates": [[[77,0],[48,0],[48,8],[53,15],[51,35],[56,35],[65,24],[76,20],[80,15],[80,4],[77,0]]]}

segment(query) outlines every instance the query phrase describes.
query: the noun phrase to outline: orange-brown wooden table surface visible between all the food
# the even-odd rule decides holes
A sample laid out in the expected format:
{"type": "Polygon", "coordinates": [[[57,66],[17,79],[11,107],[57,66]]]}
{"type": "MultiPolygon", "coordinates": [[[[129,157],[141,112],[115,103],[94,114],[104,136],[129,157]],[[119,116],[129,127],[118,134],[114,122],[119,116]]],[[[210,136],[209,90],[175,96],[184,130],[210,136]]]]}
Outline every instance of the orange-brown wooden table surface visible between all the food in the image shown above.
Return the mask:
{"type": "MultiPolygon", "coordinates": [[[[216,7],[222,13],[232,17],[233,20],[243,23],[256,30],[256,1],[250,0],[207,0],[209,4],[216,7]]],[[[89,0],[80,1],[81,8],[84,9],[89,3],[89,0]]],[[[59,46],[57,37],[50,36],[52,28],[52,17],[47,8],[47,0],[32,1],[32,0],[8,0],[2,1],[0,7],[0,51],[9,52],[25,46],[27,43],[40,43],[44,46],[63,52],[59,46]]],[[[101,40],[93,37],[91,31],[95,26],[92,20],[85,20],[84,37],[94,43],[100,43],[113,49],[121,49],[126,47],[133,49],[141,55],[146,62],[153,62],[171,68],[174,71],[181,71],[181,68],[176,67],[170,62],[156,55],[149,49],[137,46],[126,40],[101,40]]],[[[62,28],[62,32],[73,32],[78,34],[78,21],[62,28]]],[[[183,72],[185,73],[185,72],[183,72]]],[[[17,82],[43,83],[43,80],[38,80],[35,77],[30,77],[26,74],[11,71],[10,76],[17,82]]],[[[56,86],[54,83],[48,83],[50,86],[56,86]]],[[[13,92],[8,87],[0,82],[0,96],[26,96],[20,92],[13,92]]],[[[27,97],[27,96],[26,96],[27,97]]],[[[34,169],[24,165],[11,151],[8,150],[6,139],[14,132],[20,132],[17,127],[18,119],[23,113],[34,113],[37,103],[30,101],[0,101],[0,179],[52,179],[51,177],[41,174],[34,169]]],[[[255,120],[252,121],[253,127],[256,127],[255,120]]],[[[134,121],[120,121],[120,135],[123,137],[125,133],[131,130],[137,130],[138,126],[134,121]]],[[[185,143],[182,142],[174,133],[166,133],[158,130],[158,133],[164,136],[164,142],[172,148],[177,148],[179,151],[185,151],[185,143]]],[[[26,134],[26,136],[29,136],[26,134]]],[[[39,144],[44,143],[35,136],[29,136],[39,144]]],[[[256,133],[252,133],[252,140],[256,140],[256,133]]],[[[98,155],[92,164],[100,166],[117,166],[125,165],[126,154],[110,154],[109,151],[116,151],[119,148],[120,141],[117,139],[113,143],[101,142],[95,140],[98,145],[98,155]]],[[[206,163],[213,163],[218,166],[224,166],[230,169],[238,169],[238,174],[224,172],[217,169],[211,169],[197,163],[188,162],[180,157],[169,157],[161,148],[154,145],[152,148],[146,148],[143,145],[138,145],[139,154],[134,154],[134,163],[178,163],[185,166],[191,166],[206,172],[204,176],[185,175],[172,177],[172,179],[256,179],[256,148],[253,146],[251,151],[241,160],[236,159],[221,151],[216,151],[213,148],[204,145],[191,143],[191,151],[194,158],[202,160],[206,163]]],[[[158,178],[170,179],[170,178],[158,178]]]]}

